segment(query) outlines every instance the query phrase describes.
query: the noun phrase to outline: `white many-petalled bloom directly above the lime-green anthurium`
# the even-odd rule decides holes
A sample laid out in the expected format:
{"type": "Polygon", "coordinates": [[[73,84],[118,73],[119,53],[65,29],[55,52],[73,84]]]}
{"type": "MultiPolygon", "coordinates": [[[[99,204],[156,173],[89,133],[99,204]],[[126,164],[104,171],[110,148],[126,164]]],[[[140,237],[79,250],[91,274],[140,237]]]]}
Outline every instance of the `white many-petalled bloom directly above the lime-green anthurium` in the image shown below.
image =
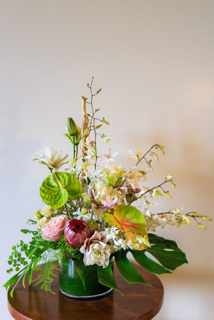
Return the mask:
{"type": "Polygon", "coordinates": [[[35,153],[33,160],[39,160],[40,163],[46,164],[50,169],[53,169],[54,171],[59,170],[59,168],[62,166],[63,161],[67,159],[68,154],[61,158],[62,156],[62,149],[57,148],[50,148],[45,147],[42,149],[41,153],[35,153]]]}

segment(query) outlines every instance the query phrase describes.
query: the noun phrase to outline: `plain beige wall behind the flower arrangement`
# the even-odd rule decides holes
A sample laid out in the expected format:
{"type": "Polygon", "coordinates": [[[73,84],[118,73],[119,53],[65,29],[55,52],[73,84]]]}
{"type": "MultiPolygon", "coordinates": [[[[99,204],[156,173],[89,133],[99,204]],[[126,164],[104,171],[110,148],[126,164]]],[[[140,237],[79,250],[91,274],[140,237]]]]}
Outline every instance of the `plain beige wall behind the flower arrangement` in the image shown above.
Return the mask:
{"type": "MultiPolygon", "coordinates": [[[[213,1],[1,0],[0,15],[2,284],[19,230],[42,205],[47,173],[33,154],[49,145],[71,155],[62,133],[67,116],[81,123],[92,75],[117,164],[133,165],[128,149],[165,145],[147,185],[172,173],[177,186],[157,211],[183,206],[213,218],[213,1]]],[[[158,230],[189,264],[160,276],[165,302],[155,319],[213,318],[213,223],[206,225],[158,230]]]]}

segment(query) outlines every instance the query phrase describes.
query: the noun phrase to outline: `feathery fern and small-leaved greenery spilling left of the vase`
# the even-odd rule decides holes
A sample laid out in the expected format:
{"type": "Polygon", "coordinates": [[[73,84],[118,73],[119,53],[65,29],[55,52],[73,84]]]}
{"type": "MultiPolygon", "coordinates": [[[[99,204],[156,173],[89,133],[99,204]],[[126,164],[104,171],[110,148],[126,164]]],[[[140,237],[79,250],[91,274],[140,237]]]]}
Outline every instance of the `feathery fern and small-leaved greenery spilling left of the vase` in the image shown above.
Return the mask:
{"type": "MultiPolygon", "coordinates": [[[[35,223],[34,220],[29,220],[28,222],[30,222],[30,224],[35,223]]],[[[51,272],[53,270],[54,261],[61,259],[64,256],[64,251],[67,251],[70,255],[72,255],[73,258],[79,258],[81,256],[81,253],[79,253],[77,249],[75,250],[68,247],[65,242],[65,236],[63,236],[58,242],[51,242],[43,239],[39,231],[30,231],[27,229],[23,229],[21,231],[25,234],[31,233],[33,237],[29,244],[26,244],[21,240],[19,244],[12,247],[13,251],[8,260],[8,264],[11,268],[7,270],[7,273],[11,273],[14,270],[18,271],[18,273],[12,276],[4,284],[4,287],[7,290],[9,285],[16,283],[16,286],[21,278],[23,278],[23,286],[25,287],[24,282],[27,272],[29,284],[31,284],[32,272],[35,268],[37,268],[38,271],[40,270],[37,283],[41,284],[41,288],[44,288],[47,291],[51,291],[51,272]],[[23,256],[23,254],[25,254],[25,256],[23,256]],[[31,261],[27,262],[27,259],[31,261]],[[46,265],[46,268],[41,267],[41,265],[38,265],[38,263],[44,263],[46,265]],[[24,268],[20,270],[21,265],[23,265],[24,268]]],[[[11,296],[13,294],[13,290],[11,291],[11,296]]]]}

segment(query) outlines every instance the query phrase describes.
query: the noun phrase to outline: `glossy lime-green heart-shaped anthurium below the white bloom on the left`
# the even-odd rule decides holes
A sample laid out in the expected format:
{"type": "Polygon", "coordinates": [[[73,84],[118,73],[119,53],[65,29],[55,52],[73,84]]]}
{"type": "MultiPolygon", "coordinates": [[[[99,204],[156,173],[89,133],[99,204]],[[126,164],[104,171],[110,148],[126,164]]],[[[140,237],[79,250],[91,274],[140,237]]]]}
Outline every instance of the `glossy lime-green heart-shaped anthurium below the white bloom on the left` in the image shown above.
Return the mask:
{"type": "Polygon", "coordinates": [[[69,172],[53,172],[42,183],[39,195],[52,208],[62,207],[68,199],[78,200],[81,183],[69,172]]]}

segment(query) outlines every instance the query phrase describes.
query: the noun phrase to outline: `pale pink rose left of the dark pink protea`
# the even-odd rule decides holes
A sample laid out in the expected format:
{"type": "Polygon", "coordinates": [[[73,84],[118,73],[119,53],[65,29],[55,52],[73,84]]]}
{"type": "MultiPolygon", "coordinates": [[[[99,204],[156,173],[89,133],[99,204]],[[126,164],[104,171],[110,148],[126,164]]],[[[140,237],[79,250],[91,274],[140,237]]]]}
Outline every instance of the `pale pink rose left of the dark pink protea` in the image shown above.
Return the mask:
{"type": "Polygon", "coordinates": [[[52,242],[59,241],[63,236],[63,229],[68,221],[68,217],[65,214],[59,214],[48,223],[45,223],[42,226],[41,236],[45,240],[49,240],[52,242]]]}

